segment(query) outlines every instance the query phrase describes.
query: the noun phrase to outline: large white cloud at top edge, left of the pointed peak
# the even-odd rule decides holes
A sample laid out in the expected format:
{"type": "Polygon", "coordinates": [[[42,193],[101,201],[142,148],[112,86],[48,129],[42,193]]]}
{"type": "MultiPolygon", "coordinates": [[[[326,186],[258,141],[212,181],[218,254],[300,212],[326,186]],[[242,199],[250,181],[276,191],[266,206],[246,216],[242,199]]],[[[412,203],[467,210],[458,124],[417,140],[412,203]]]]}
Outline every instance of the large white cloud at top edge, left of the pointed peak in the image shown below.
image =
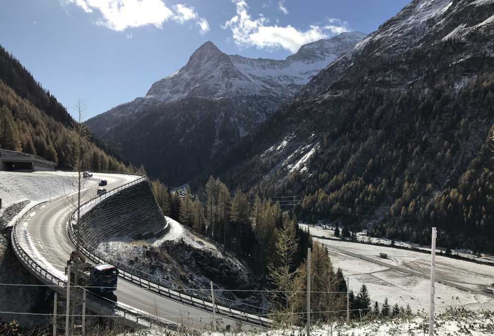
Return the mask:
{"type": "Polygon", "coordinates": [[[101,17],[95,23],[117,32],[147,25],[161,29],[168,20],[181,24],[195,21],[201,34],[209,30],[206,19],[199,17],[194,7],[176,4],[170,9],[163,0],[62,0],[62,3],[73,3],[86,13],[99,12],[101,17]]]}

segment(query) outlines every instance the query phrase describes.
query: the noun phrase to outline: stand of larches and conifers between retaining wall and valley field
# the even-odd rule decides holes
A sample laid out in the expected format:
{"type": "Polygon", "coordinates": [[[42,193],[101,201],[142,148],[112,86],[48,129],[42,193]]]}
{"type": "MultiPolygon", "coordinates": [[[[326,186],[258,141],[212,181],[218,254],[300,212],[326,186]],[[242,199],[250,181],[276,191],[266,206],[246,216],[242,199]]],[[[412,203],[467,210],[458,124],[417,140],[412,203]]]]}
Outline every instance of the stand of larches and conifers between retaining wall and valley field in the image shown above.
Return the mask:
{"type": "MultiPolygon", "coordinates": [[[[328,321],[346,316],[347,284],[341,269],[334,269],[326,248],[313,242],[310,233],[298,226],[296,215],[280,202],[241,189],[232,192],[212,176],[196,194],[188,189],[184,197],[159,181],[151,186],[166,216],[245,261],[261,287],[273,290],[271,317],[277,323],[299,324],[305,319],[306,297],[300,293],[307,291],[309,247],[317,312],[312,318],[328,321]]],[[[393,308],[387,301],[381,308],[372,307],[366,285],[356,294],[350,291],[349,303],[352,318],[412,316],[410,306],[398,303],[393,308]]]]}

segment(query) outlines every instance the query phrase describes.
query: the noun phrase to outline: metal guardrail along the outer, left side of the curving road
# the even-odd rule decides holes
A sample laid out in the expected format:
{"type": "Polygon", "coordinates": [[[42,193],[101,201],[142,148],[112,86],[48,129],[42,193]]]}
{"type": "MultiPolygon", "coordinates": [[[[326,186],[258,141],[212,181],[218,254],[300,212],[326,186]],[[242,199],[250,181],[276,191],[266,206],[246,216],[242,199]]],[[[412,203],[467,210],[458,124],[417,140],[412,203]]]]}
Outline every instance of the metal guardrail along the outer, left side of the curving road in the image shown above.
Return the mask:
{"type": "MultiPolygon", "coordinates": [[[[48,203],[48,201],[41,202],[33,207],[31,207],[24,215],[22,215],[15,224],[12,227],[12,232],[11,232],[11,243],[12,247],[14,250],[15,255],[17,256],[17,259],[33,274],[35,277],[37,277],[41,282],[45,283],[46,285],[55,285],[53,289],[59,292],[62,295],[66,295],[66,287],[67,287],[67,280],[59,277],[58,275],[52,273],[51,271],[47,270],[43,265],[41,265],[38,261],[35,261],[29,254],[22,248],[21,244],[18,241],[17,238],[17,226],[19,223],[22,223],[24,221],[24,218],[29,215],[31,212],[34,210],[40,208],[41,206],[45,205],[48,203]]],[[[74,294],[72,294],[74,295],[74,294]]],[[[111,301],[111,304],[98,304],[94,300],[88,301],[88,307],[93,307],[93,309],[97,309],[99,311],[103,311],[108,309],[108,306],[113,306],[112,310],[113,311],[118,311],[123,313],[124,318],[135,322],[136,325],[142,325],[142,322],[144,322],[143,326],[149,326],[151,327],[153,324],[160,326],[160,327],[165,327],[165,328],[170,328],[170,327],[176,327],[175,324],[166,321],[164,319],[160,319],[156,316],[153,316],[151,314],[148,314],[143,311],[139,311],[136,309],[131,309],[128,307],[124,307],[118,302],[113,302],[111,301]],[[99,306],[99,307],[98,307],[99,306]],[[134,321],[135,320],[135,321],[134,321]],[[140,320],[140,321],[139,321],[140,320]]],[[[108,315],[109,318],[115,317],[115,316],[121,316],[121,315],[108,315]]]]}

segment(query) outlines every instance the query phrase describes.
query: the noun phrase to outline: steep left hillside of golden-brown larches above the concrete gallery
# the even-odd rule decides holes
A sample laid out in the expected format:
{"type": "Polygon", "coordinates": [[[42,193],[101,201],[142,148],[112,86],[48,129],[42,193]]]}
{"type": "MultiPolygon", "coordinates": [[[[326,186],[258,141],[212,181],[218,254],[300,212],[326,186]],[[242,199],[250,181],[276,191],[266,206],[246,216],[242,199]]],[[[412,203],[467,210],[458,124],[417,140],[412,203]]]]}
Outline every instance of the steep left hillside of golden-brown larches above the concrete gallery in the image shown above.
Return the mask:
{"type": "MultiPolygon", "coordinates": [[[[72,169],[75,124],[56,98],[0,46],[0,147],[37,154],[56,162],[60,169],[72,169]]],[[[103,143],[90,134],[84,148],[85,168],[126,169],[119,155],[108,154],[103,143]]]]}

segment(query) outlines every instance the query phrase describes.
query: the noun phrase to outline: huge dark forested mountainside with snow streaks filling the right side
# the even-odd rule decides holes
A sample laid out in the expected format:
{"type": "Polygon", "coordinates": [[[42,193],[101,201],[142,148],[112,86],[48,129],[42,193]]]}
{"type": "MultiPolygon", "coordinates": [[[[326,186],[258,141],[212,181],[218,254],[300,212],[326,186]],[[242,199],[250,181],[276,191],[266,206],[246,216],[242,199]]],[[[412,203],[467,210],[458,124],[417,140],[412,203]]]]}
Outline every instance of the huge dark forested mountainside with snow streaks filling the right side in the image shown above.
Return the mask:
{"type": "Polygon", "coordinates": [[[422,244],[437,226],[439,246],[494,252],[493,13],[492,0],[412,1],[215,175],[304,195],[309,222],[422,244]]]}

